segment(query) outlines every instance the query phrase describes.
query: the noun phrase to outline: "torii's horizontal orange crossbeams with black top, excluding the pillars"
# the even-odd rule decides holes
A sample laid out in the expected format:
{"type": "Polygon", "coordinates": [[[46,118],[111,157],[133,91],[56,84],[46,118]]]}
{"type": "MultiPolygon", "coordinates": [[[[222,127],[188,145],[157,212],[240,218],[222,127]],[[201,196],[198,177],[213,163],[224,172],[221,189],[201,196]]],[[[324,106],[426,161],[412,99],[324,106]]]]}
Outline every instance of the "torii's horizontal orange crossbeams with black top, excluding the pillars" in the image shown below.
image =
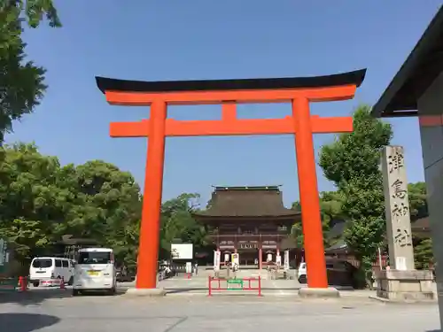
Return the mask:
{"type": "MultiPolygon", "coordinates": [[[[268,120],[237,120],[236,104],[287,103],[297,97],[310,102],[346,100],[354,97],[366,70],[329,76],[217,80],[217,81],[124,81],[97,77],[98,88],[109,104],[151,105],[222,104],[221,120],[176,121],[167,119],[166,136],[191,135],[278,135],[294,134],[291,117],[268,120]]],[[[311,117],[313,133],[352,131],[350,118],[311,117]]],[[[114,122],[113,137],[149,136],[149,120],[114,122]]]]}

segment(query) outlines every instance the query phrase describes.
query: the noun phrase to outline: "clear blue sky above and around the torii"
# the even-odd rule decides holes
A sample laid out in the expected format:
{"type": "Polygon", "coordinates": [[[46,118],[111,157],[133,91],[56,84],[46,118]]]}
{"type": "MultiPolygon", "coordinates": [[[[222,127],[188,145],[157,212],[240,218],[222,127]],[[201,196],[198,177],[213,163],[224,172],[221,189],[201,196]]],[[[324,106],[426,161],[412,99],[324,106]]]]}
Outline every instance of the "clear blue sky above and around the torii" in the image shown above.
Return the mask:
{"type": "MultiPolygon", "coordinates": [[[[149,117],[149,107],[111,106],[95,76],[144,81],[213,80],[368,72],[353,100],[311,104],[346,116],[375,104],[438,11],[441,0],[56,0],[63,27],[26,29],[27,55],[49,89],[6,142],[35,142],[64,164],[102,159],[143,186],[144,138],[111,138],[109,123],[149,117]],[[128,5],[130,4],[130,5],[128,5]]],[[[245,104],[238,117],[282,118],[290,104],[245,104]]],[[[176,120],[220,119],[217,105],[173,106],[176,120]]],[[[418,122],[389,120],[403,145],[408,181],[424,180],[418,122]]],[[[315,154],[334,135],[315,135],[315,154]]],[[[320,191],[334,189],[317,167],[320,191]]],[[[163,200],[211,186],[282,185],[299,197],[291,135],[167,138],[163,200]]]]}

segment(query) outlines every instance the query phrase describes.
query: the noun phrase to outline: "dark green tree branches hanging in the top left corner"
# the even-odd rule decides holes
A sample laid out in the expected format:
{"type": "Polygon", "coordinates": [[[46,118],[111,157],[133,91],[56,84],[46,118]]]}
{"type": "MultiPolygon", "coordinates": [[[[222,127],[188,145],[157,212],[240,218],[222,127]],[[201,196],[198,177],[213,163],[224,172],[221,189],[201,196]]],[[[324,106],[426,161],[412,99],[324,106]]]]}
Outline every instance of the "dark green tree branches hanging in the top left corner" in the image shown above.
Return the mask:
{"type": "Polygon", "coordinates": [[[51,0],[0,0],[0,145],[12,121],[33,112],[46,89],[45,70],[26,59],[22,40],[24,20],[35,28],[43,17],[61,26],[51,0]]]}

